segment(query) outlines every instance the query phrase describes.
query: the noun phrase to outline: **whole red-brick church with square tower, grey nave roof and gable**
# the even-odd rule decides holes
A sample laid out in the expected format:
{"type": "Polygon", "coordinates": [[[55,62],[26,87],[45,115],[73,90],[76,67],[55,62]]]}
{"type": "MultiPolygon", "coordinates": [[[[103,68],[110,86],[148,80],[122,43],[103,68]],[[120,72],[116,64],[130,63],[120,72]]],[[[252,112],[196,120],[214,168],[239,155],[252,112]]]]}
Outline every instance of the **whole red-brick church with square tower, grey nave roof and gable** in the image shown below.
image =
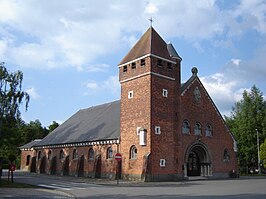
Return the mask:
{"type": "Polygon", "coordinates": [[[21,146],[21,169],[141,181],[237,172],[232,133],[197,68],[181,83],[181,61],[150,27],[118,64],[121,99],[79,110],[42,140],[21,146]]]}

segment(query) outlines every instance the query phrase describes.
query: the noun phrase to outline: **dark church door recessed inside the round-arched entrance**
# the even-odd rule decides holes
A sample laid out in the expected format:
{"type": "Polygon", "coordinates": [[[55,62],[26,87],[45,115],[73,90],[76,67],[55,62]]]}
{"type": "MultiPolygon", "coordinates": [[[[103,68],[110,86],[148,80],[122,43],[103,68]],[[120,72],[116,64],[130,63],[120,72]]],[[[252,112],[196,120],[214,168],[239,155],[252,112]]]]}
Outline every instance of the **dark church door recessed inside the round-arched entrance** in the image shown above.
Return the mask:
{"type": "Polygon", "coordinates": [[[199,156],[197,153],[193,151],[190,152],[188,156],[187,175],[188,176],[200,176],[199,156]]]}

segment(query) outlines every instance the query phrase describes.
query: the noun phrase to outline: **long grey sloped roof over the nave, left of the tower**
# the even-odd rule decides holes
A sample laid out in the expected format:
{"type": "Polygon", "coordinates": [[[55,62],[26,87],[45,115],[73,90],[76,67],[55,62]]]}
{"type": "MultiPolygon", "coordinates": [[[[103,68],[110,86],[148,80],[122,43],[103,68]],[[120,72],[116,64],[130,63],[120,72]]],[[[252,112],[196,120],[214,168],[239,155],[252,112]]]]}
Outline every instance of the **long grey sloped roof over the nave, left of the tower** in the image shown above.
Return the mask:
{"type": "Polygon", "coordinates": [[[35,146],[117,139],[120,136],[120,101],[82,109],[35,146]]]}

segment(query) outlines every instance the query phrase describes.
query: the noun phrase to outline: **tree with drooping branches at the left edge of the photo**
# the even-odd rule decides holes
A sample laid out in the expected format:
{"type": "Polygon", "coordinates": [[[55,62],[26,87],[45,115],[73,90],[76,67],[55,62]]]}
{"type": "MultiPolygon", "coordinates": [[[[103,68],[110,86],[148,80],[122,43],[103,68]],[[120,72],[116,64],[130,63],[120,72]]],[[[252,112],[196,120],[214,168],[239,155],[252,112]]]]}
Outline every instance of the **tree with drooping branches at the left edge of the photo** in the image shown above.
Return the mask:
{"type": "Polygon", "coordinates": [[[20,106],[25,102],[27,110],[30,97],[22,91],[23,73],[8,72],[4,63],[0,63],[0,156],[8,159],[17,153],[17,143],[20,143],[22,122],[20,106]]]}

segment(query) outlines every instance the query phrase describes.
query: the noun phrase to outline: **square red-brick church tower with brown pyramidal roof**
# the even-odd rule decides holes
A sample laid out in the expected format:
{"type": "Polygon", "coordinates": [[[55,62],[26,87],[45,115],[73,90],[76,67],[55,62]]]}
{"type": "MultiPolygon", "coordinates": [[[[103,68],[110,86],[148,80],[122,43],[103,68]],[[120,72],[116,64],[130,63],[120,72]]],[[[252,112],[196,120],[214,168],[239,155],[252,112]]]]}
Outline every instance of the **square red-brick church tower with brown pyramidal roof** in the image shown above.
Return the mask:
{"type": "Polygon", "coordinates": [[[150,27],[118,65],[123,178],[178,177],[181,60],[173,45],[150,27]]]}

